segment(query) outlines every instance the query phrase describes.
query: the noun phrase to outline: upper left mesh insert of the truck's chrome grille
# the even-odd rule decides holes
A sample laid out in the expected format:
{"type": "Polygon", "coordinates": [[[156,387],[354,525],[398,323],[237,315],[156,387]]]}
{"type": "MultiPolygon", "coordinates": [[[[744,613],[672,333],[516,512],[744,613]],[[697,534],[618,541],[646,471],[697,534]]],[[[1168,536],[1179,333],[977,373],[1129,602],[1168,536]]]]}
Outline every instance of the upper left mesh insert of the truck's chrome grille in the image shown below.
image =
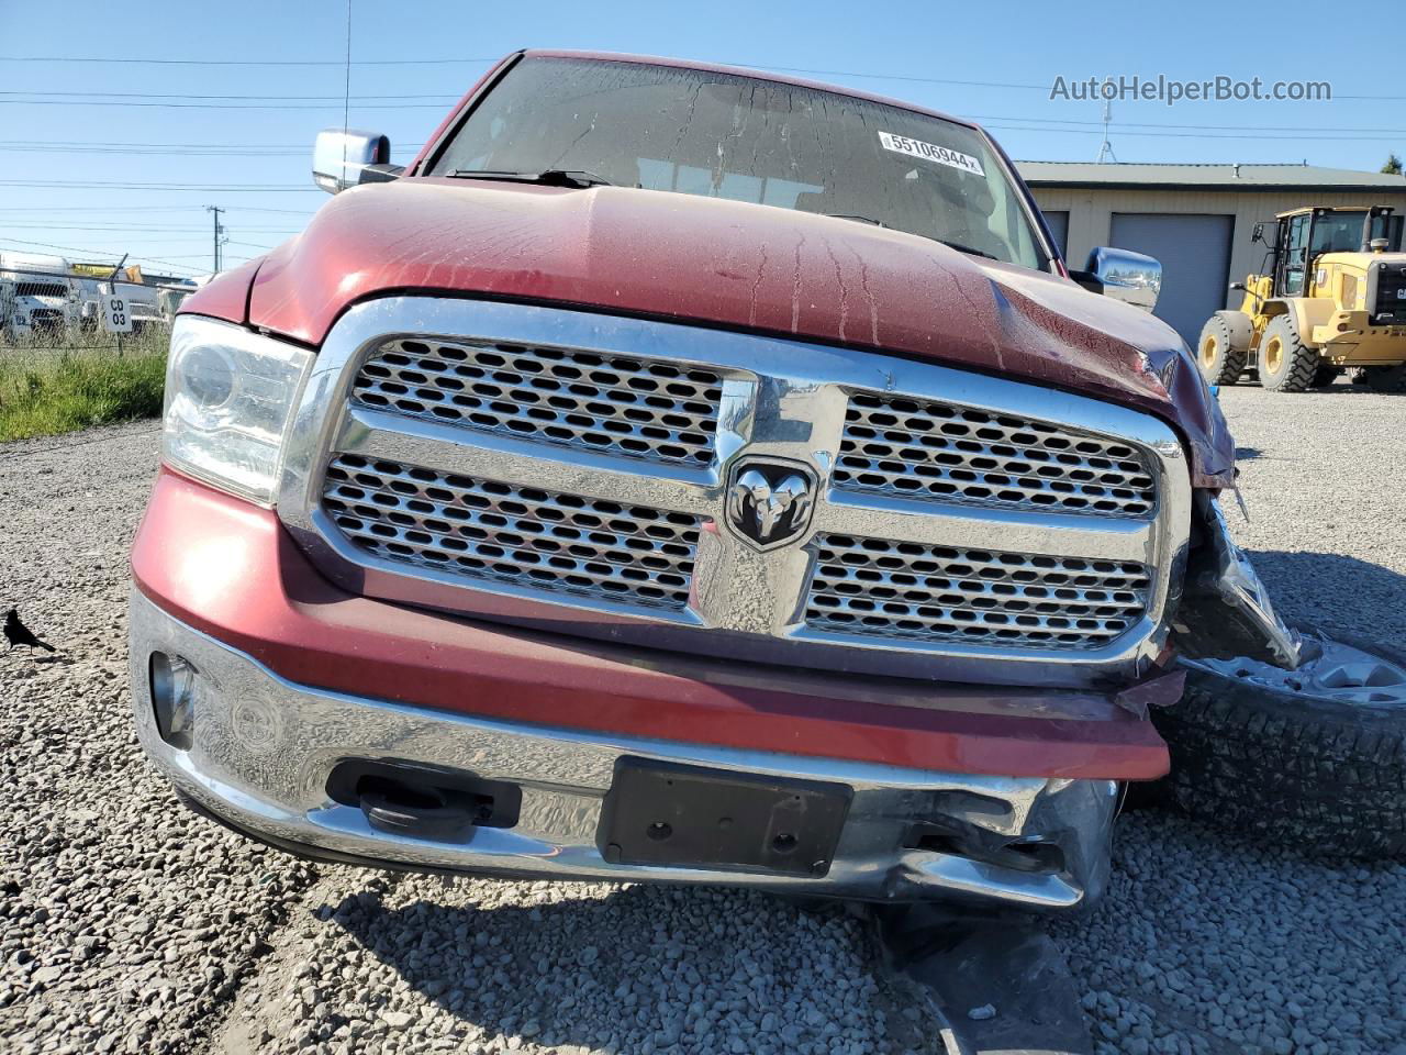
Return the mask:
{"type": "Polygon", "coordinates": [[[711,370],[652,359],[399,338],[361,364],[352,399],[523,440],[706,466],[721,385],[711,370]]]}

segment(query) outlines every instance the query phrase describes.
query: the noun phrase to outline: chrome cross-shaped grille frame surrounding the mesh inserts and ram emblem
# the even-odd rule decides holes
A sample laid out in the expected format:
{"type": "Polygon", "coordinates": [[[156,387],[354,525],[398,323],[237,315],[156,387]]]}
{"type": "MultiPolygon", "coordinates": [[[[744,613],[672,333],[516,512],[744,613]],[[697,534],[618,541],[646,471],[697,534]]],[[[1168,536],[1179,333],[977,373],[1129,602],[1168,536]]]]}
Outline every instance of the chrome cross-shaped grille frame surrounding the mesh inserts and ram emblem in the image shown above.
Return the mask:
{"type": "Polygon", "coordinates": [[[988,684],[1085,686],[1143,674],[1161,650],[1164,609],[1189,532],[1191,485],[1173,430],[1149,415],[1033,384],[801,340],[538,305],[387,297],[346,312],[314,366],[295,414],[278,512],[336,582],[382,599],[444,608],[540,629],[763,663],[988,684]],[[349,405],[366,354],[396,336],[553,345],[666,357],[724,376],[717,457],[709,467],[645,466],[599,452],[451,429],[349,405]],[[1073,512],[921,502],[828,487],[849,394],[894,392],[1047,422],[1126,443],[1156,477],[1149,520],[1073,512]],[[330,453],[387,457],[440,471],[571,491],[704,518],[685,612],[565,598],[515,584],[380,560],[354,546],[319,508],[330,453]],[[724,522],[723,481],[740,457],[808,467],[821,485],[807,533],[758,553],[724,522]],[[803,625],[815,535],[832,532],[928,544],[1139,561],[1154,570],[1147,618],[1099,648],[1059,650],[929,643],[821,633],[803,625]],[[700,632],[704,630],[706,632],[700,632]]]}

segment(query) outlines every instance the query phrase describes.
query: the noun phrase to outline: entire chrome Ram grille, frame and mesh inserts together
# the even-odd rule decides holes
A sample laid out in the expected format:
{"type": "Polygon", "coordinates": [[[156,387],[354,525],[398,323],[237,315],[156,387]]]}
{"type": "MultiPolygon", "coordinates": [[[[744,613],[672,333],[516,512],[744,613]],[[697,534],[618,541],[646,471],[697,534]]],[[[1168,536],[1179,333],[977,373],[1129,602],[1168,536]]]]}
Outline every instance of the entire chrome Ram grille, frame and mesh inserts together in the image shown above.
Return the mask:
{"type": "Polygon", "coordinates": [[[1192,522],[1187,452],[1153,415],[911,357],[551,305],[359,302],[294,422],[278,515],[347,591],[851,674],[1136,677],[1161,648],[1192,522]],[[661,374],[692,388],[669,392],[661,374]],[[592,416],[578,385],[626,395],[592,416]],[[621,408],[664,414],[628,402],[645,390],[707,404],[686,460],[617,446],[644,425],[621,408]],[[624,430],[583,436],[603,411],[624,430]],[[808,525],[758,546],[796,498],[787,466],[814,482],[808,525]]]}

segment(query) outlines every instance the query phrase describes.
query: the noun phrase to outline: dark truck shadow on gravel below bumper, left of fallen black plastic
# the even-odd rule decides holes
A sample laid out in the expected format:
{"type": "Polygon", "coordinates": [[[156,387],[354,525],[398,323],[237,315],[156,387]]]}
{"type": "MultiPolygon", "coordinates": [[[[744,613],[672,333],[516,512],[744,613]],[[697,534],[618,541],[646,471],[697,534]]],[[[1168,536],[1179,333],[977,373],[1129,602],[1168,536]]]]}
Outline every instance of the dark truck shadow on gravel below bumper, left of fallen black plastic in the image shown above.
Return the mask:
{"type": "MultiPolygon", "coordinates": [[[[721,888],[510,890],[494,904],[360,893],[319,916],[484,1040],[553,1048],[886,1052],[932,1023],[882,979],[865,924],[721,888]],[[567,895],[567,896],[562,896],[567,895]],[[533,904],[531,899],[538,897],[533,904]],[[745,1038],[745,1040],[744,1040],[745,1038]]],[[[450,893],[453,890],[453,893],[450,893]]]]}

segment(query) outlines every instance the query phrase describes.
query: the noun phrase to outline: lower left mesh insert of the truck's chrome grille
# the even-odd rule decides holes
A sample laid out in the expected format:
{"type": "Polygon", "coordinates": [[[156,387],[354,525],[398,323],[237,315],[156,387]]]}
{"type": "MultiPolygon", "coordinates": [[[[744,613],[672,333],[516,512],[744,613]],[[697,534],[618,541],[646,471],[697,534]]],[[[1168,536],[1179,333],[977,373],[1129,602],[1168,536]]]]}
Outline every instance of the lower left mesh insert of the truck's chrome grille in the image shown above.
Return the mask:
{"type": "Polygon", "coordinates": [[[387,560],[652,608],[689,599],[699,520],[686,513],[353,454],[328,464],[322,506],[387,560]]]}

